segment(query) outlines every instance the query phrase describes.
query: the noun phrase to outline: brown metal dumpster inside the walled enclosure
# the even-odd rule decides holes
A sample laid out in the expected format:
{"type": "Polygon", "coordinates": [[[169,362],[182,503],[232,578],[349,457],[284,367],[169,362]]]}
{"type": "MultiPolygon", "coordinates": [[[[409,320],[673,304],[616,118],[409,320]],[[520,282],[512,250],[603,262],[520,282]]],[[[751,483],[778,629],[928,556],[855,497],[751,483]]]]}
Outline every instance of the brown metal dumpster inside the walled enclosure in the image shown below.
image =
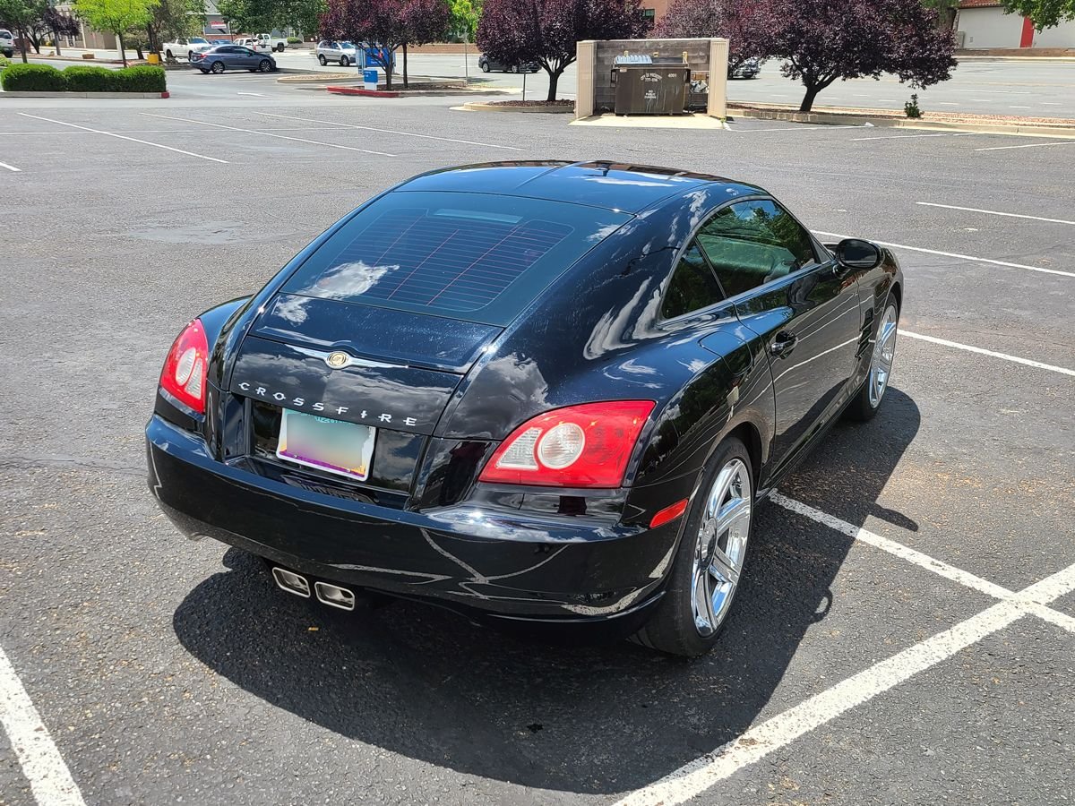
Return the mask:
{"type": "Polygon", "coordinates": [[[617,115],[682,115],[687,106],[690,67],[677,57],[617,56],[612,83],[617,115]]]}

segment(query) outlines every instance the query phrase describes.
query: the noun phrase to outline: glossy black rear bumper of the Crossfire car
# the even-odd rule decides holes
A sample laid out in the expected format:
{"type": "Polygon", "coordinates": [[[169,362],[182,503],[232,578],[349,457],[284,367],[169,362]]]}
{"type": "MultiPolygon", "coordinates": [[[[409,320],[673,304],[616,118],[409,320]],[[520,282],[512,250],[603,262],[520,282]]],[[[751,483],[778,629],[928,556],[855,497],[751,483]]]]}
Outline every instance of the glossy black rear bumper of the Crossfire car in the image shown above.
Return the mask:
{"type": "Polygon", "coordinates": [[[678,522],[627,530],[597,518],[473,505],[417,513],[338,499],[216,461],[200,436],[157,415],[146,450],[149,489],[187,536],[493,619],[636,629],[660,598],[676,545],[678,522]]]}

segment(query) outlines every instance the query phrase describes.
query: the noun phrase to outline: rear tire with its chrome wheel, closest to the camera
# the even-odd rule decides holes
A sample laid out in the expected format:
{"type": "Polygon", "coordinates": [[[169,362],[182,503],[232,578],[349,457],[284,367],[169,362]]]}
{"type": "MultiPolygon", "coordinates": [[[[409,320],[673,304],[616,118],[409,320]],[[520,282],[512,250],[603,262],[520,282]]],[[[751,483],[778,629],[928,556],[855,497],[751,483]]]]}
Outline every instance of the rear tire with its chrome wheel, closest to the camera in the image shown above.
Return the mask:
{"type": "Polygon", "coordinates": [[[686,658],[713,648],[743,577],[754,504],[750,454],[730,436],[706,464],[664,596],[635,636],[641,644],[686,658]]]}

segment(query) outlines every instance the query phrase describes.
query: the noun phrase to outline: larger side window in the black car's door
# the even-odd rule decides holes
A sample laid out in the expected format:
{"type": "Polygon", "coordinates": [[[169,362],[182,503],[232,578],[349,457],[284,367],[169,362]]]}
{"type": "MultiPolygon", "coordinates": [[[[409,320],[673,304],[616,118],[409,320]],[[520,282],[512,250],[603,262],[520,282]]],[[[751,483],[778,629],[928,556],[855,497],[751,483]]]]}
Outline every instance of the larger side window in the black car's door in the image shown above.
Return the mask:
{"type": "Polygon", "coordinates": [[[717,212],[698,233],[729,297],[816,262],[809,234],[771,201],[745,201],[717,212]]]}

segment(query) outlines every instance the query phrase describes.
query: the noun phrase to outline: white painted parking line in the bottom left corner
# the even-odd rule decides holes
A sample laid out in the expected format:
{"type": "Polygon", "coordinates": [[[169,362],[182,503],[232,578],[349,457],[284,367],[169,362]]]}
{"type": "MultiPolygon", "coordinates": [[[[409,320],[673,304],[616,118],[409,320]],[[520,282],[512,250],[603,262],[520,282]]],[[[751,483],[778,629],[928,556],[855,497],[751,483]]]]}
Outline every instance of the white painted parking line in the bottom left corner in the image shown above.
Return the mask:
{"type": "Polygon", "coordinates": [[[0,724],[41,806],[86,806],[59,748],[0,649],[0,724]]]}

